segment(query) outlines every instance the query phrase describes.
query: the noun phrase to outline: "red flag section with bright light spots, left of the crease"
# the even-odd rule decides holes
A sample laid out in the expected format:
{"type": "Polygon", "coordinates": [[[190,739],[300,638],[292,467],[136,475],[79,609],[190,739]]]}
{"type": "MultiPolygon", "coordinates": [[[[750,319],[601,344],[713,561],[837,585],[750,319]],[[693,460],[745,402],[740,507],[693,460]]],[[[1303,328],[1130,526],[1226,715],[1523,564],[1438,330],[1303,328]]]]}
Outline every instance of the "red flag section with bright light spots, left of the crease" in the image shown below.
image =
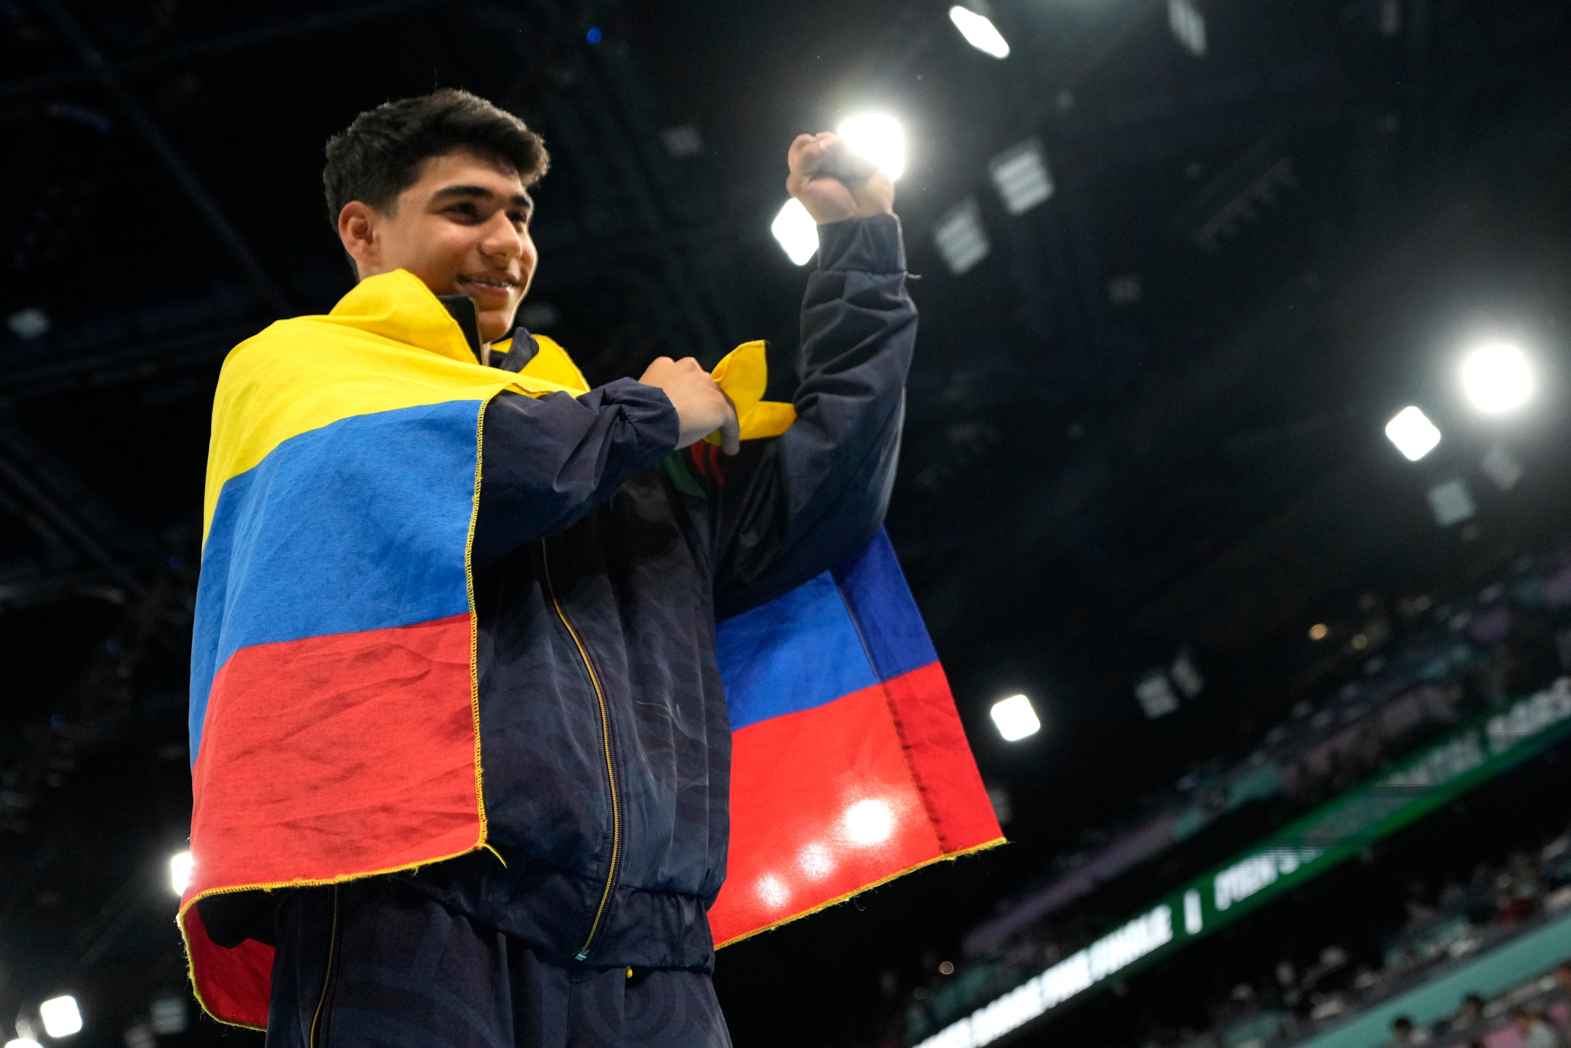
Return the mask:
{"type": "Polygon", "coordinates": [[[941,855],[880,685],[732,735],[731,863],[716,943],[941,855]]]}

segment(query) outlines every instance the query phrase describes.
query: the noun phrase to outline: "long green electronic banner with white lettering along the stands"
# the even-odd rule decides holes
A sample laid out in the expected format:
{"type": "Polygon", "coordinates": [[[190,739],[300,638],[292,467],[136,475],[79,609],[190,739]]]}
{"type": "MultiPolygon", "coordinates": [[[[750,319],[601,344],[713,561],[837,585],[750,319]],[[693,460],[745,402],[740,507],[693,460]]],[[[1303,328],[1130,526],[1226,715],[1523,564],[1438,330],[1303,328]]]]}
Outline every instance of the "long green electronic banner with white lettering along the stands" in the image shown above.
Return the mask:
{"type": "Polygon", "coordinates": [[[1155,963],[1571,735],[1571,677],[1470,721],[1169,892],[1086,949],[924,1040],[980,1048],[1114,973],[1155,963]]]}

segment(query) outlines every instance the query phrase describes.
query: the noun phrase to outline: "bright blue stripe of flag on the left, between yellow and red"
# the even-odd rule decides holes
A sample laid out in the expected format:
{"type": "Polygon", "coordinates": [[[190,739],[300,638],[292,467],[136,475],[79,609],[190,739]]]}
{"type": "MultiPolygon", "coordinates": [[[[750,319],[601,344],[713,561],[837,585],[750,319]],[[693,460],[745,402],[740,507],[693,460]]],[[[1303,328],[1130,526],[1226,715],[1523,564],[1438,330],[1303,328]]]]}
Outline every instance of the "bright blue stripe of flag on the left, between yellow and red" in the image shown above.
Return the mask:
{"type": "Polygon", "coordinates": [[[225,482],[196,586],[193,762],[214,674],[240,647],[468,611],[481,409],[446,401],[339,420],[225,482]]]}

